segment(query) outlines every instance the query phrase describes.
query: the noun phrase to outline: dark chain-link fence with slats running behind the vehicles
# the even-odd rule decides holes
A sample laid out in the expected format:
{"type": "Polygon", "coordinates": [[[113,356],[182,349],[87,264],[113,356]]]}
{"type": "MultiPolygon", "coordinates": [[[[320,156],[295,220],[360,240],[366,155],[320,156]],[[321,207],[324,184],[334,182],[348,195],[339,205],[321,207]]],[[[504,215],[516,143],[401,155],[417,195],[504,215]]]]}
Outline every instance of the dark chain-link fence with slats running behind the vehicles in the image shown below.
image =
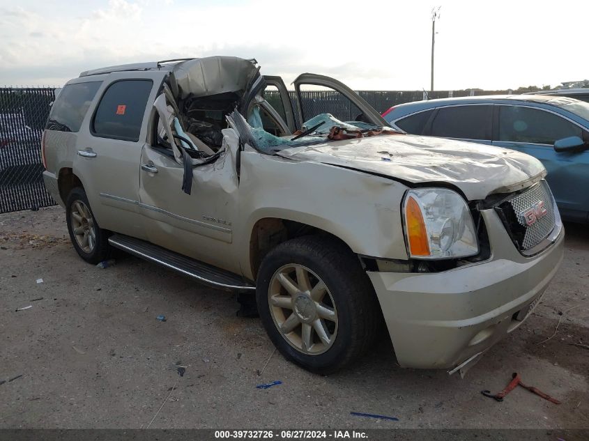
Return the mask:
{"type": "MultiPolygon", "coordinates": [[[[54,88],[0,88],[0,212],[37,210],[55,205],[43,185],[40,141],[54,100],[54,88]]],[[[436,91],[429,98],[491,95],[508,91],[436,91]]],[[[511,91],[509,91],[511,92],[511,91]]],[[[372,107],[383,112],[403,102],[425,98],[423,91],[359,91],[372,107]]],[[[296,93],[291,91],[293,105],[296,93]]],[[[277,91],[266,91],[266,100],[284,115],[277,91]]],[[[360,114],[347,98],[335,91],[301,91],[303,119],[330,113],[342,121],[360,114]]],[[[295,107],[297,127],[298,109],[295,107]]]]}

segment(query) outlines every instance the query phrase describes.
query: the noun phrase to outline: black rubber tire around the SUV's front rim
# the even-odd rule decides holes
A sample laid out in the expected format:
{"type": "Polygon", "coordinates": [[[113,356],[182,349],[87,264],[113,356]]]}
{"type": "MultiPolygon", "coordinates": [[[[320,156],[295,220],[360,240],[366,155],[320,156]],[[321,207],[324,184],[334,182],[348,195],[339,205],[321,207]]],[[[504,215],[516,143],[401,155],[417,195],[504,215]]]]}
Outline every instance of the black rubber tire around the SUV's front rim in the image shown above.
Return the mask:
{"type": "MultiPolygon", "coordinates": [[[[332,373],[358,360],[374,343],[381,323],[374,288],[358,257],[342,242],[327,236],[303,236],[271,250],[259,268],[256,297],[260,318],[276,348],[286,359],[314,373],[332,373]],[[270,282],[277,271],[291,264],[314,272],[327,286],[337,310],[337,334],[323,353],[309,355],[295,348],[270,312],[270,282]]],[[[285,311],[289,314],[288,309],[285,311]]]]}

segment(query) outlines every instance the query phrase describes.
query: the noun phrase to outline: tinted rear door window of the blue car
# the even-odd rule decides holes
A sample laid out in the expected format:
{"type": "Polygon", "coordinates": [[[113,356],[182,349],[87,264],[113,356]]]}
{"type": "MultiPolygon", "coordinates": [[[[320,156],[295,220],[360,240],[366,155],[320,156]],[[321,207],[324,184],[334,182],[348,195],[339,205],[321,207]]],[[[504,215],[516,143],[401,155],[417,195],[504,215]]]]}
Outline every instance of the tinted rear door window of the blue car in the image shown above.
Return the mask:
{"type": "Polygon", "coordinates": [[[491,141],[492,106],[442,107],[431,125],[431,135],[491,141]]]}

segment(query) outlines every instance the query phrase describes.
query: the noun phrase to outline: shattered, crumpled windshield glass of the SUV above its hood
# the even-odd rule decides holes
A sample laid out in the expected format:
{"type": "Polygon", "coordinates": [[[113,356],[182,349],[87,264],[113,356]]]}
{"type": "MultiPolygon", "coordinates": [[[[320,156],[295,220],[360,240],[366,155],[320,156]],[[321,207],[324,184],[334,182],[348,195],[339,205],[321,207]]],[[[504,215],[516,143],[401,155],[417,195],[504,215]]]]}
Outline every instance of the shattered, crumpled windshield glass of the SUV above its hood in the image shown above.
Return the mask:
{"type": "Polygon", "coordinates": [[[257,109],[254,109],[250,118],[248,118],[247,125],[249,125],[250,132],[252,132],[254,147],[263,153],[275,153],[285,148],[309,146],[332,141],[328,135],[333,127],[340,127],[346,130],[346,132],[351,133],[364,133],[382,128],[362,121],[339,121],[339,119],[331,114],[319,114],[305,121],[303,127],[298,132],[286,137],[277,137],[263,129],[257,109]],[[307,131],[309,133],[305,134],[307,131]],[[300,136],[301,134],[305,134],[305,136],[300,136]]]}

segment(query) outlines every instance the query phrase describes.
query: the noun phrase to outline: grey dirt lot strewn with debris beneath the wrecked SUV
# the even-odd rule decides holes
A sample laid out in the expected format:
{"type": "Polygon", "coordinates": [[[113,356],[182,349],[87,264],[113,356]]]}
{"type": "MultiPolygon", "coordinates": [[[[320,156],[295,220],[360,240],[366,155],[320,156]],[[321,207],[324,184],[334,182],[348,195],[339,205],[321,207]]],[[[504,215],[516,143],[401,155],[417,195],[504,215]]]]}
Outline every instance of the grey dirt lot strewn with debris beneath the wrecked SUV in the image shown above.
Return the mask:
{"type": "Polygon", "coordinates": [[[586,227],[567,225],[543,302],[464,380],[399,368],[386,335],[333,376],[278,353],[258,376],[273,346],[259,320],[236,316],[234,295],[130,256],[95,268],[66,235],[59,207],[0,215],[0,380],[22,374],[0,385],[2,428],[589,428],[589,350],[569,344],[589,344],[586,227]],[[480,394],[514,371],[563,404],[480,394]]]}

